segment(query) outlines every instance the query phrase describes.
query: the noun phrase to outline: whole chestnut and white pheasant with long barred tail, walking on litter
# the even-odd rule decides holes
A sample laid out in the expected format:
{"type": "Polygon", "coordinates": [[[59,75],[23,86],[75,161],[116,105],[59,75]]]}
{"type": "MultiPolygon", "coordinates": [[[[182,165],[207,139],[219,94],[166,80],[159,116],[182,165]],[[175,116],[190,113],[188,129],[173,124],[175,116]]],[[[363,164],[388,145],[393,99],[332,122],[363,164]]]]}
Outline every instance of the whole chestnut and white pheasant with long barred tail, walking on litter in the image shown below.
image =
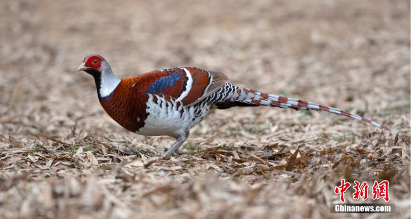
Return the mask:
{"type": "Polygon", "coordinates": [[[227,82],[226,75],[218,71],[178,67],[120,80],[108,62],[97,54],[85,57],[77,70],[94,77],[104,110],[126,130],[139,135],[176,138],[161,157],[179,153],[178,149],[188,138],[190,129],[206,119],[214,109],[233,106],[264,105],[297,111],[324,111],[398,134],[384,125],[341,109],[233,85],[227,82]]]}

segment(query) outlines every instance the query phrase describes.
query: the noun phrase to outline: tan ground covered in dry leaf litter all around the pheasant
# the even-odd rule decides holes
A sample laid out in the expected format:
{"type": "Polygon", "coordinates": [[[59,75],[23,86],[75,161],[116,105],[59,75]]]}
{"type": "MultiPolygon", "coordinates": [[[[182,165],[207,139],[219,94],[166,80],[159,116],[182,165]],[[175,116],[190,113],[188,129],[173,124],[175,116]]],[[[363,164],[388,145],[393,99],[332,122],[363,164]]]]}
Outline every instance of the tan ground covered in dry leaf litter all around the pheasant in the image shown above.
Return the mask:
{"type": "Polygon", "coordinates": [[[90,53],[119,77],[193,65],[409,135],[409,8],[1,1],[0,218],[409,218],[409,144],[388,132],[325,113],[232,108],[196,126],[185,155],[159,160],[173,139],[122,129],[76,72],[90,53]],[[342,177],[388,179],[397,213],[330,214],[342,177]]]}

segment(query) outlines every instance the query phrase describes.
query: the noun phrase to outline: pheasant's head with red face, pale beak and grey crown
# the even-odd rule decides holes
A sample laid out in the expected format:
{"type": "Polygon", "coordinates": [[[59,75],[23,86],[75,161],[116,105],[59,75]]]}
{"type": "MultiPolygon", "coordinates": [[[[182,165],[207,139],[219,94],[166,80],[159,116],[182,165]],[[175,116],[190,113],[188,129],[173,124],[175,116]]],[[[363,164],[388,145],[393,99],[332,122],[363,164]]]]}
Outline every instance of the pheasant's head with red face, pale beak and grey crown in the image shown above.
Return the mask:
{"type": "Polygon", "coordinates": [[[103,57],[92,54],[83,59],[83,63],[77,68],[77,71],[85,71],[92,76],[100,77],[107,68],[110,68],[110,66],[103,57]]]}

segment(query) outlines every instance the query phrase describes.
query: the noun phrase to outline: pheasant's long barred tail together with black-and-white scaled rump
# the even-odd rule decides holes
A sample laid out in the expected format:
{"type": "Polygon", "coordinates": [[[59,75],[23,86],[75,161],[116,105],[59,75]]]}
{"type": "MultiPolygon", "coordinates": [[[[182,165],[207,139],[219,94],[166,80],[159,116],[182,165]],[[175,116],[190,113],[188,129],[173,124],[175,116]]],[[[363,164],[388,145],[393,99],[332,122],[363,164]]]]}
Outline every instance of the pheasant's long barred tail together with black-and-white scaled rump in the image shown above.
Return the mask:
{"type": "Polygon", "coordinates": [[[389,127],[381,125],[375,121],[363,118],[361,116],[342,111],[338,108],[324,106],[303,100],[277,96],[272,94],[261,93],[253,89],[238,87],[227,83],[220,90],[218,90],[213,97],[210,96],[210,101],[216,103],[218,108],[230,108],[232,106],[276,106],[281,108],[292,108],[297,111],[323,111],[332,114],[342,115],[353,119],[358,119],[371,125],[380,127],[391,133],[398,134],[404,141],[409,141],[406,135],[400,135],[399,132],[389,129],[389,127]],[[225,95],[227,94],[227,95],[225,95]]]}

